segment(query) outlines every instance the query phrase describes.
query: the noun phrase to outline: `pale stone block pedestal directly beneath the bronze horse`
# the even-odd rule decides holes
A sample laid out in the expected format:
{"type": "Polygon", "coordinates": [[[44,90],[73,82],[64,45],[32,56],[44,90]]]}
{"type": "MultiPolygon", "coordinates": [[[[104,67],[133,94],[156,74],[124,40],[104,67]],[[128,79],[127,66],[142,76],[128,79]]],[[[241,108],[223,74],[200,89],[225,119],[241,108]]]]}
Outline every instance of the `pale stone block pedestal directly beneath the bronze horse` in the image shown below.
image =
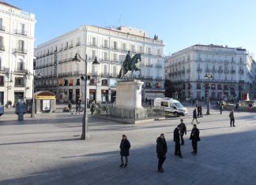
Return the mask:
{"type": "Polygon", "coordinates": [[[141,106],[141,80],[121,81],[116,87],[116,106],[123,109],[137,109],[141,106]]]}

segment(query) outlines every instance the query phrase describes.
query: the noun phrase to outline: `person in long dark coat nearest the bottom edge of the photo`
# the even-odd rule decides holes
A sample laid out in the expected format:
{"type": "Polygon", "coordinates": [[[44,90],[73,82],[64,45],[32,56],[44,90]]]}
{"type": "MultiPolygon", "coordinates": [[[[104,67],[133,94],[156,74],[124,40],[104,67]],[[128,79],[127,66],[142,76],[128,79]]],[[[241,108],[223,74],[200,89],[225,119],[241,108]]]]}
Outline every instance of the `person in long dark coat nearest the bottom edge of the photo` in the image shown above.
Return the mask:
{"type": "Polygon", "coordinates": [[[168,152],[167,144],[164,139],[164,134],[161,134],[160,137],[156,139],[156,154],[158,157],[158,172],[164,172],[164,169],[162,168],[166,153],[168,152]]]}

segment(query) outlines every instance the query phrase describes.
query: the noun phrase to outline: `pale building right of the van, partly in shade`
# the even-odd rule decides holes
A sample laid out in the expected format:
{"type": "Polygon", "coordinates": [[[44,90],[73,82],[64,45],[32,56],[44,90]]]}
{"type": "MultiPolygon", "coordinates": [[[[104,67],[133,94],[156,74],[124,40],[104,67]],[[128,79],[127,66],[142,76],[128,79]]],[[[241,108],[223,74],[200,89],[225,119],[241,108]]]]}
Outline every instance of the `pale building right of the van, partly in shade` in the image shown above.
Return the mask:
{"type": "Polygon", "coordinates": [[[253,61],[245,49],[194,45],[167,58],[165,77],[179,98],[245,100],[253,96],[253,61]],[[205,79],[205,75],[213,79],[205,79]]]}

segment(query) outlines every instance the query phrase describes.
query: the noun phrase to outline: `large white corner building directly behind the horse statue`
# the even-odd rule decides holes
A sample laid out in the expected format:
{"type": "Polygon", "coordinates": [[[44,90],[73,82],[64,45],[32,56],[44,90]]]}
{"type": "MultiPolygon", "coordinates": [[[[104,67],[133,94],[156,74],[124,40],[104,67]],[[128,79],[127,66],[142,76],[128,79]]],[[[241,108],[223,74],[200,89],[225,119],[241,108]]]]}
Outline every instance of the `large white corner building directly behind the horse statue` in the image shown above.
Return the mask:
{"type": "MultiPolygon", "coordinates": [[[[119,71],[127,51],[141,53],[143,98],[164,96],[164,43],[146,37],[145,31],[129,28],[82,26],[36,48],[36,91],[48,90],[58,102],[77,102],[84,98],[85,62],[72,61],[76,53],[88,61],[87,97],[96,102],[114,102],[119,71]],[[55,50],[57,52],[55,52],[55,50]],[[100,65],[92,65],[97,57],[100,65]]],[[[138,77],[138,72],[134,73],[138,77]]],[[[84,100],[83,100],[84,101],[84,100]]]]}

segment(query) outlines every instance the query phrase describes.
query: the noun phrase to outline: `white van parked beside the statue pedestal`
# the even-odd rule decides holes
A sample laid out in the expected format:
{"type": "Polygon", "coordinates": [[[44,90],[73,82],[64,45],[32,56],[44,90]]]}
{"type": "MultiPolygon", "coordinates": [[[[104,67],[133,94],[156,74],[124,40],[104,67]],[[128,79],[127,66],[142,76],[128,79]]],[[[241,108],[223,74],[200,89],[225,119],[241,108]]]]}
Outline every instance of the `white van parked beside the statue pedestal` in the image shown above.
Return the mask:
{"type": "Polygon", "coordinates": [[[172,98],[156,98],[154,106],[164,107],[166,115],[172,114],[175,117],[179,117],[187,114],[186,107],[184,107],[178,100],[172,98]]]}

